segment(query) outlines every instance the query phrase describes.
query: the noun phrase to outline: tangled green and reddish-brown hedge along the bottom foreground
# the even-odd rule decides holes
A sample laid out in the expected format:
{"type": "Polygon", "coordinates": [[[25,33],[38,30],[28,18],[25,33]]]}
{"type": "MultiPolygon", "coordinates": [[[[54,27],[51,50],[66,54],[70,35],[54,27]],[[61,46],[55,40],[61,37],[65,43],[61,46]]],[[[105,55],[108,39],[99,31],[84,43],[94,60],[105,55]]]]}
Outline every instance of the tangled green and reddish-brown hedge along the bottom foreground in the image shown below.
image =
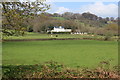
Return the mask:
{"type": "MultiPolygon", "coordinates": [[[[100,65],[108,65],[109,62],[103,61],[100,65]]],[[[100,66],[95,69],[65,67],[54,61],[36,65],[8,65],[3,66],[3,78],[118,78],[119,66],[114,70],[100,66]]]]}

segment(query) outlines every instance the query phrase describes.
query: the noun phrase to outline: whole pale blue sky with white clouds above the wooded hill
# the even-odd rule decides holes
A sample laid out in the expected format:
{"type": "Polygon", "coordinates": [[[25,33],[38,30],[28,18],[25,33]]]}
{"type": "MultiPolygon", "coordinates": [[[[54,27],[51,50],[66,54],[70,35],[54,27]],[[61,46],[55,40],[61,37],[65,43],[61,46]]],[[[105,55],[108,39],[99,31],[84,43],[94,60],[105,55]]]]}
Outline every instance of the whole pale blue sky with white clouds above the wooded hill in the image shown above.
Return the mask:
{"type": "Polygon", "coordinates": [[[52,2],[49,13],[90,12],[101,17],[117,17],[118,2],[52,2]]]}

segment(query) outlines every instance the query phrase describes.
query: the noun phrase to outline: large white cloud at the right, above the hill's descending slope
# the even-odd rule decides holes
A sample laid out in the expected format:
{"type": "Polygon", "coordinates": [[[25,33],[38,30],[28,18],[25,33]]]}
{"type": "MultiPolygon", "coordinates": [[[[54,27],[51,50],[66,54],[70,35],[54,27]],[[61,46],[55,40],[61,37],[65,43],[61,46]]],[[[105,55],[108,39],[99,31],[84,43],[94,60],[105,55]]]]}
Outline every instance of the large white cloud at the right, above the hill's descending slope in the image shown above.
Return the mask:
{"type": "Polygon", "coordinates": [[[115,4],[103,4],[102,2],[95,2],[94,4],[84,5],[80,8],[80,12],[91,12],[97,16],[102,17],[117,17],[118,6],[115,4]]]}

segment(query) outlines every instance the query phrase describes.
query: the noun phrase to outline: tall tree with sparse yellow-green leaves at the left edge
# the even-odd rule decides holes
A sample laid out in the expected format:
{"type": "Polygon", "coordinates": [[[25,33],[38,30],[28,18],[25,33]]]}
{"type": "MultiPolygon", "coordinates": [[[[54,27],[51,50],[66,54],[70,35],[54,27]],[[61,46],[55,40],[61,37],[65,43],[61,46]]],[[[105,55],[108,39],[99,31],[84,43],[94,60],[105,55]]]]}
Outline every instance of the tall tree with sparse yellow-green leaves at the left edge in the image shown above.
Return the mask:
{"type": "Polygon", "coordinates": [[[24,35],[25,22],[49,9],[44,2],[2,2],[3,33],[7,36],[24,35]]]}

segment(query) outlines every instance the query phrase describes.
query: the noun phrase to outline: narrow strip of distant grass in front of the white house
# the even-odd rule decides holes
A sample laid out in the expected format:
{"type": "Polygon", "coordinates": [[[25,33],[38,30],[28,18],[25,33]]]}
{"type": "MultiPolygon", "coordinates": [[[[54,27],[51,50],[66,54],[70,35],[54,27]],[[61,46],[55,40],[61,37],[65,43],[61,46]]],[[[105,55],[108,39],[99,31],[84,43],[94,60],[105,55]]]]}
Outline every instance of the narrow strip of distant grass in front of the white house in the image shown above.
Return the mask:
{"type": "Polygon", "coordinates": [[[99,35],[80,35],[80,34],[40,34],[40,33],[26,33],[24,36],[8,36],[4,39],[45,39],[45,38],[104,38],[99,35]],[[56,37],[58,35],[58,37],[56,37]]]}

